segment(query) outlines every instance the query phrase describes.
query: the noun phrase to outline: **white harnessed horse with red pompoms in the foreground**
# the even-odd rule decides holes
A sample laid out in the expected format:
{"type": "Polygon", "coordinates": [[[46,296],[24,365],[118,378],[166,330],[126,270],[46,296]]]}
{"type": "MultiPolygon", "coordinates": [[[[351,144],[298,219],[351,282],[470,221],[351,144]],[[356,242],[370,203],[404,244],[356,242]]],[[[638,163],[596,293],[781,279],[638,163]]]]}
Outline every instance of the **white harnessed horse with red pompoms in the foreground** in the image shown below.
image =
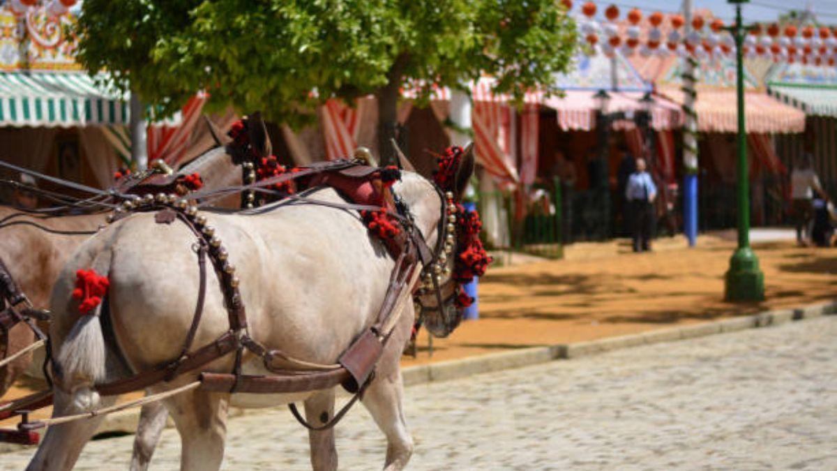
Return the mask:
{"type": "MultiPolygon", "coordinates": [[[[473,156],[468,153],[457,172],[458,194],[472,171],[473,156]]],[[[416,227],[434,247],[444,201],[433,184],[405,172],[393,191],[408,204],[416,227]]],[[[333,189],[314,189],[308,195],[345,202],[333,189]]],[[[355,211],[285,201],[254,213],[205,213],[237,267],[249,335],[298,359],[335,363],[352,340],[374,322],[393,271],[392,257],[381,241],[369,235],[355,211]]],[[[185,225],[160,225],[154,215],[146,213],[117,221],[75,252],[55,284],[51,303],[54,323],[50,334],[63,370],[61,387],[54,391],[54,417],[112,404],[114,397],[100,398],[91,386],[127,375],[105,345],[99,311],[81,318],[78,314],[78,301],[70,296],[76,270],[94,268],[109,277],[107,303],[116,348],[131,370],[150,370],[177,358],[192,323],[199,282],[194,243],[195,235],[185,225]]],[[[212,280],[210,273],[195,347],[212,342],[229,329],[223,295],[212,280]]],[[[434,306],[433,299],[426,301],[425,305],[434,306]]],[[[445,305],[434,311],[439,318],[448,318],[451,309],[445,305]]],[[[403,414],[398,365],[413,324],[413,303],[408,300],[395,312],[401,313],[400,318],[362,396],[387,437],[386,469],[403,468],[413,451],[403,414]]],[[[427,325],[435,334],[448,333],[442,321],[427,325]]],[[[229,372],[233,365],[234,355],[226,355],[200,370],[229,372]]],[[[243,365],[245,373],[270,374],[252,355],[244,355],[243,365]]],[[[187,372],[169,383],[151,386],[149,391],[186,385],[198,378],[198,372],[187,372]]],[[[192,390],[168,397],[165,406],[182,439],[182,468],[220,467],[229,406],[278,406],[291,401],[304,401],[306,419],[321,423],[322,417],[334,415],[335,389],[282,395],[192,390]]],[[[29,469],[72,468],[100,421],[101,417],[96,417],[49,427],[29,469]]],[[[311,431],[310,443],[313,467],[335,469],[333,429],[311,431]]]]}

